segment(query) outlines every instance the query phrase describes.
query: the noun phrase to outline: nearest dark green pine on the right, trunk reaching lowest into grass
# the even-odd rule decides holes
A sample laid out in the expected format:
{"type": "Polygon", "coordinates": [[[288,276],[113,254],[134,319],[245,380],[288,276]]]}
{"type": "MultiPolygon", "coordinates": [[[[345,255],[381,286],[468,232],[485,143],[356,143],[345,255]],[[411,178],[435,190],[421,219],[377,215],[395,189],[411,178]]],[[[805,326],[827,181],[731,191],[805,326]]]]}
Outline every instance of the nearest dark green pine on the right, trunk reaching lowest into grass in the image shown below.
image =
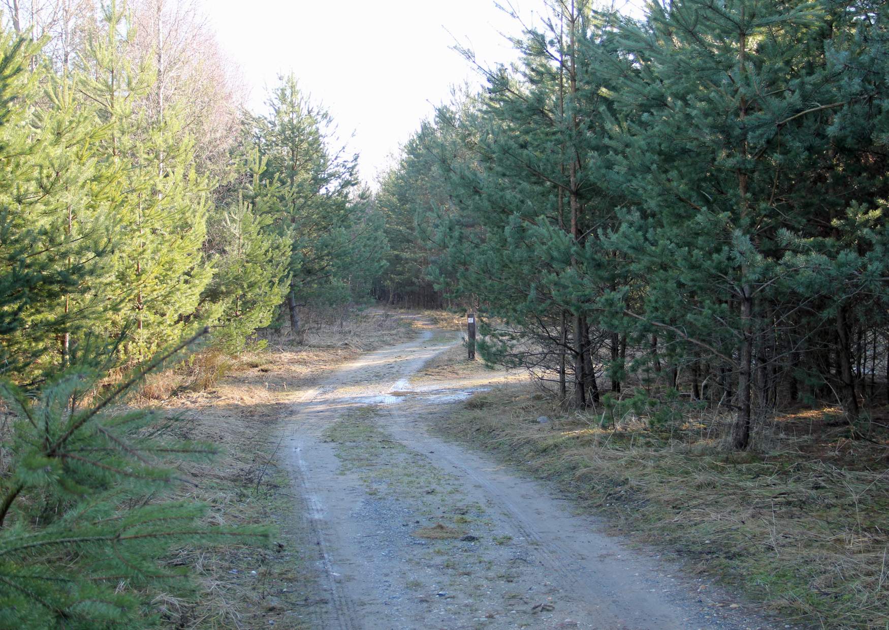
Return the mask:
{"type": "Polygon", "coordinates": [[[601,64],[621,76],[615,170],[636,207],[614,242],[646,279],[640,319],[736,373],[736,448],[767,412],[773,339],[791,325],[775,285],[788,273],[782,241],[818,221],[819,204],[838,216],[850,201],[812,192],[834,151],[831,110],[858,98],[837,98],[847,73],[813,63],[832,46],[827,15],[810,3],[651,4],[621,27],[633,63],[601,64]]]}

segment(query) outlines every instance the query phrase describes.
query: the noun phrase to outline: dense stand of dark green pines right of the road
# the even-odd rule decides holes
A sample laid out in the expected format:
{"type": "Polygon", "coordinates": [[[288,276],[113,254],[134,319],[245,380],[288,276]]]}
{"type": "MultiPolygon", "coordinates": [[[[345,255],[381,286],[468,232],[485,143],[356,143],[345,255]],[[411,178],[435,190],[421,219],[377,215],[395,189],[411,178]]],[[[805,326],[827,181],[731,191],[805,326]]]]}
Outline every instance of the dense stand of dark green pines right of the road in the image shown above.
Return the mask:
{"type": "Polygon", "coordinates": [[[427,276],[477,300],[488,360],[575,405],[680,387],[736,413],[736,448],[780,404],[854,424],[887,363],[887,17],[553,3],[517,68],[484,69],[388,176],[437,161],[398,201],[433,225],[427,276]]]}

